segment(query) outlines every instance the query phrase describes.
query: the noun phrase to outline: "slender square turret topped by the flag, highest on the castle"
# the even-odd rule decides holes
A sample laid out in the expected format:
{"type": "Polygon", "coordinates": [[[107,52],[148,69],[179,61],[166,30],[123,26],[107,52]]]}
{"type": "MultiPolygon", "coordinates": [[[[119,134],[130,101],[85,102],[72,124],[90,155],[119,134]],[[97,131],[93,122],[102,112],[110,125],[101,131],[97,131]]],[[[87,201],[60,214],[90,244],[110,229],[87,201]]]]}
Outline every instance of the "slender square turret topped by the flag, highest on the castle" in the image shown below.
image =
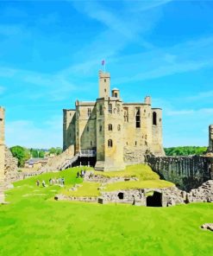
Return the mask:
{"type": "Polygon", "coordinates": [[[108,99],[110,97],[110,73],[99,71],[99,98],[108,99]]]}

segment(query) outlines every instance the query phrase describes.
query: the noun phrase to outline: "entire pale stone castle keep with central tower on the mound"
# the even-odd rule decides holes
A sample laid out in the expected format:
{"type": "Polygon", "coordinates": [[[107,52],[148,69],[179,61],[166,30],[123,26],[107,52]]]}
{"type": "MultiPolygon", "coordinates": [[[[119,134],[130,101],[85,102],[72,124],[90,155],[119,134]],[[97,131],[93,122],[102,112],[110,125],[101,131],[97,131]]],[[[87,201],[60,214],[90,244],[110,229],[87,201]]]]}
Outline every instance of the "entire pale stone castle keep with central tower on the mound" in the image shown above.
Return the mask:
{"type": "Polygon", "coordinates": [[[124,103],[120,91],[110,92],[110,74],[99,72],[96,101],[76,101],[75,109],[64,109],[63,149],[74,154],[96,152],[96,170],[124,170],[126,164],[143,163],[147,150],[164,156],[162,110],[152,108],[151,98],[124,103]]]}

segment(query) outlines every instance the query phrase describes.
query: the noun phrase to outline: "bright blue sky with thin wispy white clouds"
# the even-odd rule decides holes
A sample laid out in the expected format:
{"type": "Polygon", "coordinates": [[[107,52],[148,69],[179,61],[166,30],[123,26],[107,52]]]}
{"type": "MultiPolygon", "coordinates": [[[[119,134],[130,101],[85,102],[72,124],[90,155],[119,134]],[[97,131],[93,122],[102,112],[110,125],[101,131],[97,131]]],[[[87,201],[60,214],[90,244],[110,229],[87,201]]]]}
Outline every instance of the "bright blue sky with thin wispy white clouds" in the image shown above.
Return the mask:
{"type": "Polygon", "coordinates": [[[165,146],[207,145],[213,2],[1,1],[6,143],[62,146],[62,109],[97,98],[106,60],[124,101],[163,108],[165,146]]]}

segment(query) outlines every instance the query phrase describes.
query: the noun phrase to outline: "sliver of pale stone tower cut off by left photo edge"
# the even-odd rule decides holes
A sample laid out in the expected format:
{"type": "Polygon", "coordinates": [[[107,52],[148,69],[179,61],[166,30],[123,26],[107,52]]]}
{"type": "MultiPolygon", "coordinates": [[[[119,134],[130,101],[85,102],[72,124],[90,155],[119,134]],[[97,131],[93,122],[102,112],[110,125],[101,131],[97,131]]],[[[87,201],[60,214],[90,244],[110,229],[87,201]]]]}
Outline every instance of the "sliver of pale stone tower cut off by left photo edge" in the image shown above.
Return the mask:
{"type": "Polygon", "coordinates": [[[4,109],[0,106],[0,183],[4,181],[5,145],[4,145],[4,109]]]}

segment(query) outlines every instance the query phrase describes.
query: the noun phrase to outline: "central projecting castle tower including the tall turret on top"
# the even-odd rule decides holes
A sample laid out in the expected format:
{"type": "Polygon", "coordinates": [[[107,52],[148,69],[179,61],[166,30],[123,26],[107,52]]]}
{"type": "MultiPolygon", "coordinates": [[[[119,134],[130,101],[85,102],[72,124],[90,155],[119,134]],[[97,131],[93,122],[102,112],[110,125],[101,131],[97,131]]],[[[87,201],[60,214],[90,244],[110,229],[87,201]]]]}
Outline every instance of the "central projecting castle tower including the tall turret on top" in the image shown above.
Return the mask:
{"type": "Polygon", "coordinates": [[[97,163],[96,170],[124,170],[123,116],[120,91],[112,90],[110,74],[99,73],[97,99],[97,163]]]}

